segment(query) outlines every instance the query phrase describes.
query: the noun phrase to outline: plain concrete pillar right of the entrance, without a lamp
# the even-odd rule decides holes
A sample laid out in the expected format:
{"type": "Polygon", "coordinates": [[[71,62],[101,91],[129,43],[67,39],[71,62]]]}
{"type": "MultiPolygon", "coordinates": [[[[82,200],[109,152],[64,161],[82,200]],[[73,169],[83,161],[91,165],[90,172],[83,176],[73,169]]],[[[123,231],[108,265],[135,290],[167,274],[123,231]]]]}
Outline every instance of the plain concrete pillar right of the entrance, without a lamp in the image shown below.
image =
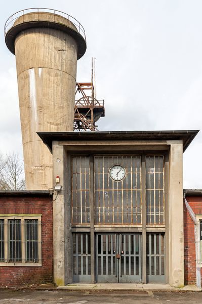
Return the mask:
{"type": "Polygon", "coordinates": [[[183,146],[173,141],[169,156],[169,277],[173,287],[184,286],[183,146]]]}

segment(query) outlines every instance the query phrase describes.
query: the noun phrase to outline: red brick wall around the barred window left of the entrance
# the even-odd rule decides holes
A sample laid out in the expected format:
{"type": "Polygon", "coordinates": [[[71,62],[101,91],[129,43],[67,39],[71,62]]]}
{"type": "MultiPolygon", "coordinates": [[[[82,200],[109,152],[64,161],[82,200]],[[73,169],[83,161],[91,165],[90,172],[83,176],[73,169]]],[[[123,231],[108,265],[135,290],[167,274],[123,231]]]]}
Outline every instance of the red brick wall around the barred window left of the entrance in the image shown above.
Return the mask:
{"type": "Polygon", "coordinates": [[[0,287],[53,282],[53,213],[47,196],[4,197],[0,214],[42,214],[42,267],[0,267],[0,287]]]}

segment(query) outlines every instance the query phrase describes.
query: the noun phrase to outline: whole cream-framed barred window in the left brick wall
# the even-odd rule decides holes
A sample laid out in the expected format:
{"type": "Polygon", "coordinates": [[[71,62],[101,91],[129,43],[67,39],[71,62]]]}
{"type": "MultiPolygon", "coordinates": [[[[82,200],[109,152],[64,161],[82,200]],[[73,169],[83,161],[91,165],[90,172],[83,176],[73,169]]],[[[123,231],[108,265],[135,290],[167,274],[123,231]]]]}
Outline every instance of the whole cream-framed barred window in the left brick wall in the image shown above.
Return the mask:
{"type": "Polygon", "coordinates": [[[41,216],[0,217],[0,265],[41,266],[41,216]]]}

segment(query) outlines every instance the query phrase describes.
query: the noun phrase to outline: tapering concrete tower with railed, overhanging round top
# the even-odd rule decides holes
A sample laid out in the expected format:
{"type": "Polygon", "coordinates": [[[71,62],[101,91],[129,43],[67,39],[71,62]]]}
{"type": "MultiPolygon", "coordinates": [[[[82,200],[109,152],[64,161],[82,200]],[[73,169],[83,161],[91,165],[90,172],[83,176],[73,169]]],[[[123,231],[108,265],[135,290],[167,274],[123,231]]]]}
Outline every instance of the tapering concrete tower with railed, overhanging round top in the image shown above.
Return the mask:
{"type": "Polygon", "coordinates": [[[5,25],[16,56],[26,189],[52,188],[52,155],[36,132],[73,131],[77,59],[86,52],[82,25],[50,9],[28,9],[5,25]]]}

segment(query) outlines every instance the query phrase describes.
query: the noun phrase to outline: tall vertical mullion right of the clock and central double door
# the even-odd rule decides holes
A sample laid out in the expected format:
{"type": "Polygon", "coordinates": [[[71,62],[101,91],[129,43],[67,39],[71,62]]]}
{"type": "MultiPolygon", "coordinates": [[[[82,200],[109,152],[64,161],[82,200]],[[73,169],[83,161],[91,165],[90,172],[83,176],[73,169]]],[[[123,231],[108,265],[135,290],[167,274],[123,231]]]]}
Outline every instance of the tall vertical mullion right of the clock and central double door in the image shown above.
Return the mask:
{"type": "Polygon", "coordinates": [[[141,251],[141,265],[142,265],[142,283],[146,283],[146,166],[145,155],[142,156],[142,182],[141,182],[141,194],[142,194],[142,242],[139,251],[141,251]]]}

